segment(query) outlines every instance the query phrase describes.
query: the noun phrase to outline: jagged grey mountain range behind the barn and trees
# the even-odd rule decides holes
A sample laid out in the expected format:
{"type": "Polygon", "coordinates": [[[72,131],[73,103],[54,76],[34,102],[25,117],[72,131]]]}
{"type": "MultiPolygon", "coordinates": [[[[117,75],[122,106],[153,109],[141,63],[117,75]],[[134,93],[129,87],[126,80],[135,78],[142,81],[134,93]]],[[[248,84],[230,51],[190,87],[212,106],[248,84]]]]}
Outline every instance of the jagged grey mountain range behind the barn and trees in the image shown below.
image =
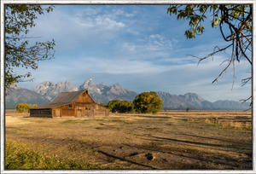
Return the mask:
{"type": "MultiPolygon", "coordinates": [[[[54,100],[61,92],[71,92],[77,90],[88,89],[91,98],[97,102],[107,104],[111,100],[128,100],[133,101],[138,95],[136,92],[122,88],[119,84],[108,86],[107,84],[95,84],[92,78],[88,78],[77,87],[71,82],[53,82],[44,81],[27,90],[22,87],[17,87],[13,92],[6,96],[6,108],[15,107],[20,102],[30,104],[44,105],[54,100]]],[[[172,95],[166,92],[157,92],[160,99],[163,101],[163,108],[166,109],[190,109],[196,110],[245,110],[249,108],[249,104],[234,101],[217,101],[209,102],[195,93],[186,93],[185,95],[172,95]]]]}

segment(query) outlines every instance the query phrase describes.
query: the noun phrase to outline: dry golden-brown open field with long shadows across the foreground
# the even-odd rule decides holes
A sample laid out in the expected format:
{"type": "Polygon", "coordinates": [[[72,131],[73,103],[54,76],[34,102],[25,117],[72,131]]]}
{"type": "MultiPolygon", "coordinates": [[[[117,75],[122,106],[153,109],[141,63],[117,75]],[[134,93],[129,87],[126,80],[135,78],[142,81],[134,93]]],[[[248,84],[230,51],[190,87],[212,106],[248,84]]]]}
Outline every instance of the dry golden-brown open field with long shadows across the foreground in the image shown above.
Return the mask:
{"type": "Polygon", "coordinates": [[[9,169],[251,170],[251,121],[242,111],[93,119],[7,112],[5,162],[9,169]]]}

